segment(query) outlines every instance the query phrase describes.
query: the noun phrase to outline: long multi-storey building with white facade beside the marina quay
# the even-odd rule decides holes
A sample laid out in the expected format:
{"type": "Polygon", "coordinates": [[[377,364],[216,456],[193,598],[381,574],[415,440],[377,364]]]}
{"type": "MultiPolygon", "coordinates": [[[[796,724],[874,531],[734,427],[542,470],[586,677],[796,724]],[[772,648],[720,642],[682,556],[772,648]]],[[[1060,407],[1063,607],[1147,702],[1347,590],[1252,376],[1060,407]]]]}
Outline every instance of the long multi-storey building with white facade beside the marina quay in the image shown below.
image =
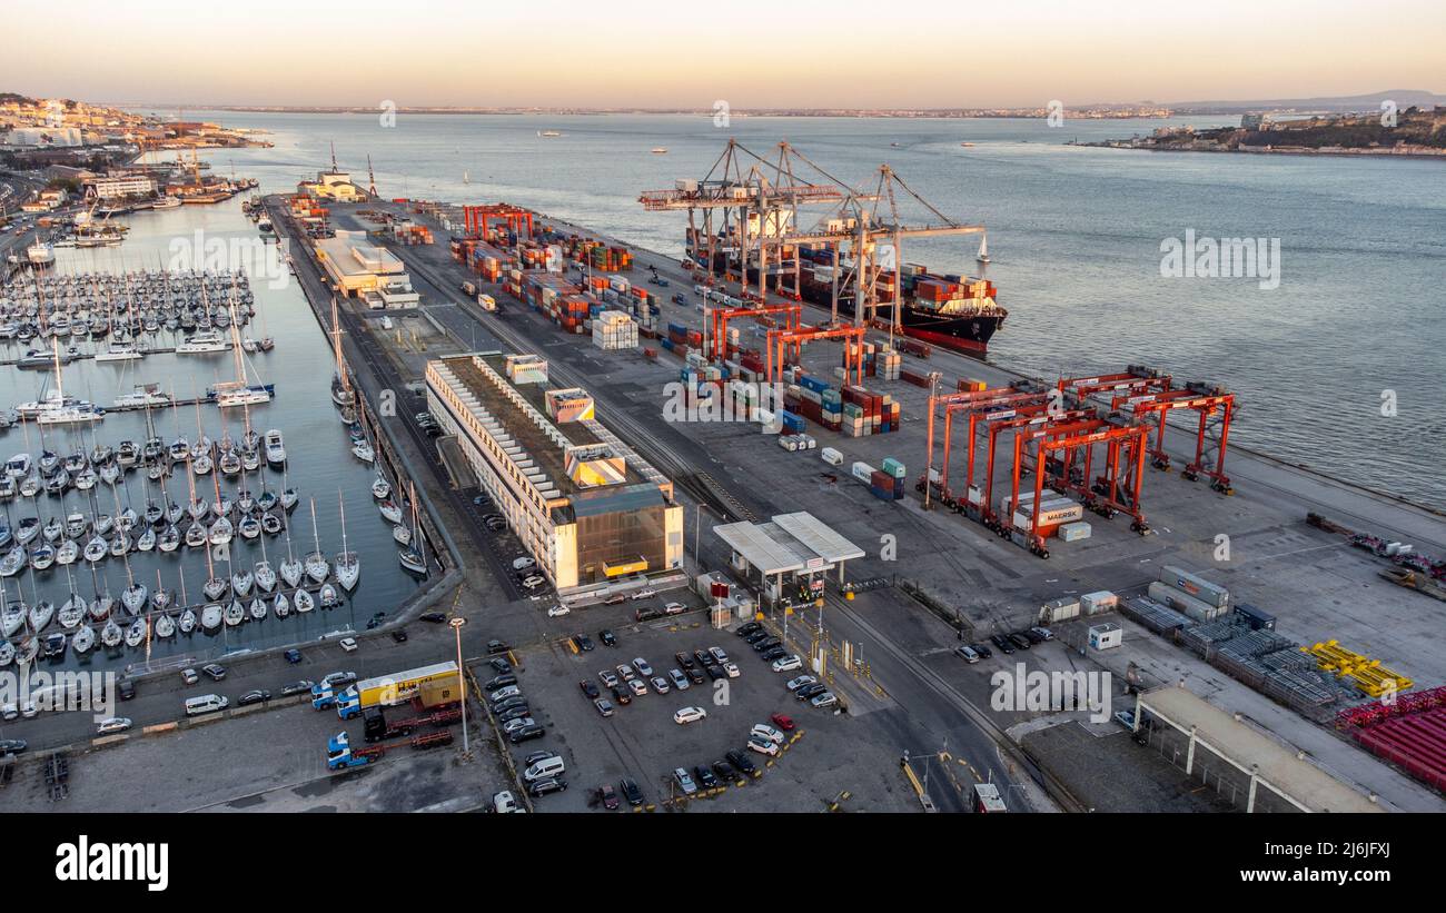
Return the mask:
{"type": "Polygon", "coordinates": [[[586,390],[552,386],[542,358],[429,361],[427,400],[560,595],[683,566],[672,483],[607,430],[586,390]]]}

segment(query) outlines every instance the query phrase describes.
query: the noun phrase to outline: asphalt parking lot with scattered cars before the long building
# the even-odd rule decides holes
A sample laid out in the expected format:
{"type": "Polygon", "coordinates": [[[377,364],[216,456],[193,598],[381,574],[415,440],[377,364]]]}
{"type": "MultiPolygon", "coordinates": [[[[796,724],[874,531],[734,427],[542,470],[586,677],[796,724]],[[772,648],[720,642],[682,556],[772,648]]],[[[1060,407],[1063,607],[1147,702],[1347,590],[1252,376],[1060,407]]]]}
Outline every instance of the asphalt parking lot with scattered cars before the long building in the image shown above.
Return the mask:
{"type": "MultiPolygon", "coordinates": [[[[623,607],[617,607],[622,610],[623,607]]],[[[606,618],[602,611],[590,620],[606,618]]],[[[622,618],[622,613],[615,613],[622,618]]],[[[630,613],[629,615],[630,617],[630,613]]],[[[620,782],[633,780],[642,792],[643,809],[685,809],[706,803],[707,810],[826,810],[842,793],[842,810],[917,810],[911,789],[898,771],[897,753],[888,745],[884,730],[865,719],[839,714],[837,708],[820,709],[797,701],[785,683],[805,670],[774,673],[740,637],[732,631],[707,627],[703,613],[675,620],[620,623],[610,628],[616,646],[602,643],[597,630],[587,630],[593,649],[576,650],[568,639],[558,639],[518,656],[518,686],[526,696],[531,714],[545,734],[512,745],[519,770],[529,754],[552,751],[567,767],[567,790],[535,799],[538,812],[581,812],[597,806],[597,787],[619,792],[620,810],[629,803],[620,782]],[[619,675],[616,666],[642,657],[654,675],[687,672],[674,656],[685,652],[701,669],[694,650],[719,647],[737,666],[737,676],[703,683],[691,680],[687,689],[669,682],[667,693],[648,685],[646,693],[619,705],[599,673],[619,675]],[[613,705],[603,717],[580,682],[596,685],[613,705]],[[678,724],[674,714],[698,706],[706,717],[678,724]],[[781,714],[788,722],[774,721],[781,714]],[[746,748],[755,724],[779,730],[782,744],[777,756],[746,748]],[[791,730],[784,730],[790,725],[791,730]],[[749,773],[720,777],[713,764],[739,751],[755,766],[749,773]],[[717,783],[696,770],[707,769],[717,783]],[[677,767],[687,769],[698,792],[684,800],[684,790],[672,777],[677,767]]],[[[633,670],[636,679],[636,670],[633,670]]],[[[479,670],[479,678],[482,672],[479,670]]],[[[483,682],[484,683],[484,682],[483,682]]],[[[870,715],[868,719],[873,719],[870,715]]]]}

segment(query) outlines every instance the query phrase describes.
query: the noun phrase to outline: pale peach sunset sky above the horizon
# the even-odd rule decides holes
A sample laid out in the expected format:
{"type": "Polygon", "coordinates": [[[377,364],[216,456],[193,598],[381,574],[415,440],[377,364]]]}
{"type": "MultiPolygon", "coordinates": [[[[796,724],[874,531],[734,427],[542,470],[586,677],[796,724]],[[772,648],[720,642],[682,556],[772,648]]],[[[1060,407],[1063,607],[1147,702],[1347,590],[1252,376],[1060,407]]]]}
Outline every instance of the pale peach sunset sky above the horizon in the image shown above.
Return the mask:
{"type": "Polygon", "coordinates": [[[6,19],[0,91],[103,103],[928,108],[1446,92],[1440,0],[68,0],[6,19]]]}

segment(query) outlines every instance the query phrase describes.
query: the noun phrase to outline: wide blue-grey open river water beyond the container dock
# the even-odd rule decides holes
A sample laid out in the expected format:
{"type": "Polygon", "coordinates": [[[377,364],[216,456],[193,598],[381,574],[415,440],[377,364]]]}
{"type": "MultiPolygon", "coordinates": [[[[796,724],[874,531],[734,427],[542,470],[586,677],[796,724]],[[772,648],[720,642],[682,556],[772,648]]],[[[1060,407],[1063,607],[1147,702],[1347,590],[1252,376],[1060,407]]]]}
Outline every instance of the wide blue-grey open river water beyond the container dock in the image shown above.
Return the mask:
{"type": "MultiPolygon", "coordinates": [[[[372,156],[386,196],[505,199],[669,253],[681,253],[685,218],[643,212],[638,192],[704,176],[729,136],[763,157],[787,139],[857,185],[888,162],[943,212],[988,225],[988,274],[1011,311],[995,361],[1048,376],[1147,363],[1223,383],[1242,397],[1235,441],[1446,506],[1443,162],[1066,144],[1164,123],[1226,123],[1210,118],[1060,129],[1043,120],[733,118],[720,130],[683,116],[399,116],[390,129],[372,116],[208,117],[272,131],[273,149],[215,159],[270,191],[325,166],[334,142],[363,183],[372,156]],[[539,139],[544,129],[564,136],[539,139]],[[654,146],[669,152],[649,155],[654,146]],[[1161,241],[1192,228],[1280,238],[1280,287],[1161,277],[1161,241]],[[1398,403],[1394,417],[1381,415],[1385,390],[1398,403]]],[[[905,259],[975,273],[976,246],[907,243],[905,259]]]]}

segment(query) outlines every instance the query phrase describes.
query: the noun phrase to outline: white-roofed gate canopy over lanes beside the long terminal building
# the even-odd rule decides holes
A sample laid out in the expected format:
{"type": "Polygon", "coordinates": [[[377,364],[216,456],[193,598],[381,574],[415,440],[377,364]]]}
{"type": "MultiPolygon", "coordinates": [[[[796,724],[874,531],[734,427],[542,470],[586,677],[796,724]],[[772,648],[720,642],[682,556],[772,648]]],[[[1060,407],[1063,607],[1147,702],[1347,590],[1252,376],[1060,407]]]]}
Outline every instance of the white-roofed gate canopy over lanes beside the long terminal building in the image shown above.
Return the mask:
{"type": "Polygon", "coordinates": [[[768,523],[726,523],[713,532],[733,550],[733,571],[756,584],[769,607],[814,604],[830,571],[837,568],[843,584],[844,563],[863,558],[863,549],[807,511],[768,523]]]}

